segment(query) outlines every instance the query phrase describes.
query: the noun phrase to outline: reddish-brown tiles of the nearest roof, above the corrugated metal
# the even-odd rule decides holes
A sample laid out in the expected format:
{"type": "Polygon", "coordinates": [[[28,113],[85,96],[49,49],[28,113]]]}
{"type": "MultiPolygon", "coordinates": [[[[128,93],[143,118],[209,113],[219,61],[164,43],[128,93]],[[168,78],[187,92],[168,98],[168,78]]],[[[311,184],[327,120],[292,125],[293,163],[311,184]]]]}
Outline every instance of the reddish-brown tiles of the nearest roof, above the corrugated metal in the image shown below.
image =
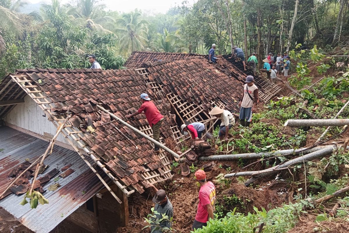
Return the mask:
{"type": "MultiPolygon", "coordinates": [[[[169,126],[176,125],[174,115],[170,115],[169,106],[149,90],[148,84],[135,70],[91,70],[91,69],[27,69],[17,70],[17,75],[28,75],[53,101],[56,112],[70,110],[74,116],[69,121],[73,126],[86,132],[87,125],[93,123],[95,133],[88,133],[82,140],[91,150],[102,158],[108,170],[112,171],[126,186],[132,186],[143,192],[142,173],[164,169],[150,143],[127,127],[110,122],[110,116],[100,112],[96,104],[114,112],[125,119],[125,115],[134,112],[141,105],[140,94],[148,92],[165,116],[162,135],[170,137],[169,126]],[[138,149],[136,148],[138,147],[138,149]]],[[[135,127],[148,126],[143,114],[135,116],[131,124],[135,127]]],[[[165,170],[165,169],[164,169],[165,170]]]]}

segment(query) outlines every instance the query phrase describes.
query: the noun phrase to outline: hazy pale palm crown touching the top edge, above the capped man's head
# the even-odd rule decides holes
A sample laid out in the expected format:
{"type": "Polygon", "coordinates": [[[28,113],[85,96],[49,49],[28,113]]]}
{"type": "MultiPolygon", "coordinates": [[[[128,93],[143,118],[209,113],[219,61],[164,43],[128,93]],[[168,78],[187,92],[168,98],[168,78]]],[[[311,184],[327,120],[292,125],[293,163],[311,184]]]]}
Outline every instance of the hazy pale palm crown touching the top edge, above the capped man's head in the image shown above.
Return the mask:
{"type": "Polygon", "coordinates": [[[80,0],[78,3],[78,12],[74,22],[89,28],[92,31],[102,33],[112,33],[103,28],[103,23],[115,22],[110,16],[103,16],[104,5],[96,5],[96,0],[80,0]]]}

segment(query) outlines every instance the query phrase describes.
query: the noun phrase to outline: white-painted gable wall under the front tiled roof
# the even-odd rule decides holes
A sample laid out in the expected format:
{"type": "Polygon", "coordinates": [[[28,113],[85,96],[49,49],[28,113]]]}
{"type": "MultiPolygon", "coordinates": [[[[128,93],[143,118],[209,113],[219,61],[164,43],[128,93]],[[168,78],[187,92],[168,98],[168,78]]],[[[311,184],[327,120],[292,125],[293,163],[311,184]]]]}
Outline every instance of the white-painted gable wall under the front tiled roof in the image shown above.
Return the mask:
{"type": "MultiPolygon", "coordinates": [[[[24,103],[17,104],[16,107],[4,117],[4,121],[43,136],[47,136],[47,133],[53,136],[57,131],[54,124],[45,116],[44,111],[29,97],[29,95],[24,97],[24,103]]],[[[69,144],[62,134],[60,134],[56,140],[69,144]]],[[[74,144],[76,143],[74,142],[74,144]]]]}

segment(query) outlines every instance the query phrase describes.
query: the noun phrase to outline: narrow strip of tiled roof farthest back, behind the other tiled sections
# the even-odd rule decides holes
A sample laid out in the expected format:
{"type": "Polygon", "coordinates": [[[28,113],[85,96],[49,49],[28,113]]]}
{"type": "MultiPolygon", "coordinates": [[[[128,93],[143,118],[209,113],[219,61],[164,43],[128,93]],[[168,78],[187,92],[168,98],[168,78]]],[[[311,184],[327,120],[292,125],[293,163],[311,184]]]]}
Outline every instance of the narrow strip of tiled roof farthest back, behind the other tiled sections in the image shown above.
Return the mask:
{"type": "Polygon", "coordinates": [[[181,60],[181,59],[192,57],[192,56],[204,57],[205,55],[195,54],[195,53],[164,53],[164,52],[133,51],[131,53],[131,56],[125,62],[124,66],[129,69],[139,68],[148,61],[153,62],[154,59],[177,61],[177,60],[181,60]]]}

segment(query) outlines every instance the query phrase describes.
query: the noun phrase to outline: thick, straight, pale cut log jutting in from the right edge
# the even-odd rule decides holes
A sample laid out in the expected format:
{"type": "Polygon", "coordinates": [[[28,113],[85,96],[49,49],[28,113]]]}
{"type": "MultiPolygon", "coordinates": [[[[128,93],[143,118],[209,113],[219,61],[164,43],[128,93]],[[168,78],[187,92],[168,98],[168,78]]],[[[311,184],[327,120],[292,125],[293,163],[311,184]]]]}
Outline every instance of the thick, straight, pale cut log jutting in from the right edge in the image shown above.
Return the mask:
{"type": "Polygon", "coordinates": [[[284,126],[344,126],[349,119],[288,119],[284,126]]]}

